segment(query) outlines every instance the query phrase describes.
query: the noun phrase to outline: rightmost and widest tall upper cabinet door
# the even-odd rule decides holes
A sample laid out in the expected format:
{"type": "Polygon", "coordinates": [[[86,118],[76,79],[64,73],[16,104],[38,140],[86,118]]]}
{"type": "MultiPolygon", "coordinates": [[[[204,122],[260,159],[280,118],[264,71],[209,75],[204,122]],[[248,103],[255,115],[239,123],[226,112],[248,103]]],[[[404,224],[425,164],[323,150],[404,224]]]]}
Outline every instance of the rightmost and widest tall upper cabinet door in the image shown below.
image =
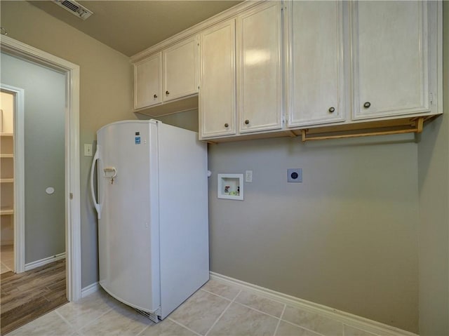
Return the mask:
{"type": "Polygon", "coordinates": [[[428,111],[427,1],[352,5],[353,118],[428,111]]]}

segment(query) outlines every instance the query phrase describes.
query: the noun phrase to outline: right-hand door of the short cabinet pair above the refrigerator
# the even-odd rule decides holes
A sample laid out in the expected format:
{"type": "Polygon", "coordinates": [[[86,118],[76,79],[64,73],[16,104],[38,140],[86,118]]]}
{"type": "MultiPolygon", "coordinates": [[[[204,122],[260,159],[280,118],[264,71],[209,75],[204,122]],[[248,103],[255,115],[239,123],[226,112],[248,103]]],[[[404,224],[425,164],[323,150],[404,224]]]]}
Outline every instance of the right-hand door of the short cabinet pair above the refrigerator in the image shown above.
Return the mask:
{"type": "Polygon", "coordinates": [[[163,51],[163,100],[198,93],[198,46],[196,36],[163,51]]]}

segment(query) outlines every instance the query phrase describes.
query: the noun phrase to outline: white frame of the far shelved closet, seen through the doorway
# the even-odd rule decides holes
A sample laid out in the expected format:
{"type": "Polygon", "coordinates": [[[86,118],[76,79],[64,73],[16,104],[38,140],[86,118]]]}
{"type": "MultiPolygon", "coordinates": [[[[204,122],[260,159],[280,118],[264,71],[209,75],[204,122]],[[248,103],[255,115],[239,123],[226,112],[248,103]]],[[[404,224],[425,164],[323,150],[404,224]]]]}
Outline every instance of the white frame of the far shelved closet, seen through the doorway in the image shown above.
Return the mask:
{"type": "Polygon", "coordinates": [[[13,95],[14,134],[14,271],[25,271],[25,145],[24,90],[0,83],[1,92],[13,95]]]}

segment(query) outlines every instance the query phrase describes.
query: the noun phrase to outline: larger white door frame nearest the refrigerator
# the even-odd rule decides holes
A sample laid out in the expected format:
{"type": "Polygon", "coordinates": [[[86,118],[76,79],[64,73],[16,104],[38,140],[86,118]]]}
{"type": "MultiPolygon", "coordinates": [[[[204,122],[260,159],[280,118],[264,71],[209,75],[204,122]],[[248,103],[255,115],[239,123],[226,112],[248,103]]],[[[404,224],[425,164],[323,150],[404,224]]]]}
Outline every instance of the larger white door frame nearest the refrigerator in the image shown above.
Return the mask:
{"type": "MultiPolygon", "coordinates": [[[[81,212],[79,182],[79,65],[25,43],[1,36],[1,51],[66,75],[65,111],[65,248],[67,300],[81,299],[81,212]]],[[[16,173],[16,171],[15,171],[16,173]]],[[[23,208],[22,208],[23,209],[23,208]]],[[[23,234],[23,233],[22,233],[23,234]]],[[[20,238],[20,237],[18,237],[20,238]]],[[[25,243],[25,234],[23,234],[25,243]]],[[[22,244],[25,246],[25,244],[22,244]]],[[[18,251],[20,253],[20,251],[18,251]]],[[[25,253],[23,269],[25,269],[25,253]]]]}

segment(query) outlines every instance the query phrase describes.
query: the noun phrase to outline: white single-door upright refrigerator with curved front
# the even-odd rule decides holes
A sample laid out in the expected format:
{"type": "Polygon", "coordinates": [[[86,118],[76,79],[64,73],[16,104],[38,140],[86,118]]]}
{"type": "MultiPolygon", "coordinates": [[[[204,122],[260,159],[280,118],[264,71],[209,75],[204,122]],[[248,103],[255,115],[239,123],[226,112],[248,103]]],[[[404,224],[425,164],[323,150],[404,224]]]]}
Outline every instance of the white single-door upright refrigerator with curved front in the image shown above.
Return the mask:
{"type": "Polygon", "coordinates": [[[158,321],[208,281],[207,147],[197,133],[155,120],[100,128],[91,194],[107,293],[158,321]]]}

